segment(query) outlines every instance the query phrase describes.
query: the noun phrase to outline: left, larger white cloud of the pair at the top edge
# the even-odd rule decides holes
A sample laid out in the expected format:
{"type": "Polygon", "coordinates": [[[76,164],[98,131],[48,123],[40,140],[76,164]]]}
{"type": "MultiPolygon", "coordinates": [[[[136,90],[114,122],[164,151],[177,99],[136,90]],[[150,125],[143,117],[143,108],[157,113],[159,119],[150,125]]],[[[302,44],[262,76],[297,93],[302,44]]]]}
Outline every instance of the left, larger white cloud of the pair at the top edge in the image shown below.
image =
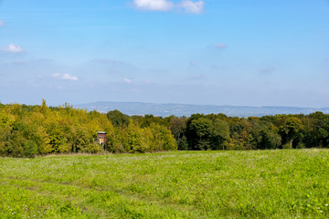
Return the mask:
{"type": "Polygon", "coordinates": [[[146,11],[170,11],[174,7],[174,3],[167,0],[133,0],[133,5],[146,11]]]}

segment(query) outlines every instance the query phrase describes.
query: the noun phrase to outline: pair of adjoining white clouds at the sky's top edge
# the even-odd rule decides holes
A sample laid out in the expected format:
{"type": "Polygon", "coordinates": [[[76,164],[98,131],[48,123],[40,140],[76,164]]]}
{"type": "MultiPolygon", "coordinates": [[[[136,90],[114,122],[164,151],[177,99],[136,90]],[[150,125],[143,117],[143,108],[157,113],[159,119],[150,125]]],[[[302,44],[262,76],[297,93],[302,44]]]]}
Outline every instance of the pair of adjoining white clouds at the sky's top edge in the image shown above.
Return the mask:
{"type": "Polygon", "coordinates": [[[171,0],[133,0],[133,5],[137,10],[143,11],[172,11],[175,8],[182,8],[187,13],[201,14],[205,7],[203,0],[191,1],[183,0],[179,3],[174,3],[171,0]]]}

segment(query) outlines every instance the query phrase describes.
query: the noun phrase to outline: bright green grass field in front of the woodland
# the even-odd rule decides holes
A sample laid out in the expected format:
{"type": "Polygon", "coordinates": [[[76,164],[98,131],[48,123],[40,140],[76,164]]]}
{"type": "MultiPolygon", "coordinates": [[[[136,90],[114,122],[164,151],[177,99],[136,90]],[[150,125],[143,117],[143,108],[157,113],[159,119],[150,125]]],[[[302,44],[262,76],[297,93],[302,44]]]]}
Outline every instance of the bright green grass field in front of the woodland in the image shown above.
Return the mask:
{"type": "Polygon", "coordinates": [[[0,218],[329,218],[329,151],[0,158],[0,218]]]}

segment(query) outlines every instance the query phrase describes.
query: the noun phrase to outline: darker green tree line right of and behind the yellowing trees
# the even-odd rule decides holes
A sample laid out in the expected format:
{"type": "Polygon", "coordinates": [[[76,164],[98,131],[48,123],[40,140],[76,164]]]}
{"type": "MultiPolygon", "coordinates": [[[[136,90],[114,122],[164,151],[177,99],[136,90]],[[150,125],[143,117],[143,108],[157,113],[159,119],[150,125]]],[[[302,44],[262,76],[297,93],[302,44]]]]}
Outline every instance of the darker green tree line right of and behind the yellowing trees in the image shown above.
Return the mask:
{"type": "Polygon", "coordinates": [[[133,119],[141,127],[159,124],[171,130],[178,150],[266,150],[328,148],[329,115],[228,117],[225,114],[193,114],[189,118],[153,115],[128,117],[118,110],[107,113],[111,123],[124,127],[133,119]]]}

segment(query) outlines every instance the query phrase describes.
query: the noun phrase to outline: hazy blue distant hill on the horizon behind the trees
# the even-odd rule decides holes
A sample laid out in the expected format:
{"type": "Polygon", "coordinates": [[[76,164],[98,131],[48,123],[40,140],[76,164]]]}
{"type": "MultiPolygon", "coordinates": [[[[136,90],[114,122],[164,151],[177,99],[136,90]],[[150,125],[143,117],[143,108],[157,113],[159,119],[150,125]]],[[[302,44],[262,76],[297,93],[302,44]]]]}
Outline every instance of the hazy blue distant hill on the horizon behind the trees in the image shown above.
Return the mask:
{"type": "Polygon", "coordinates": [[[315,111],[329,113],[329,108],[297,108],[297,107],[246,107],[246,106],[215,106],[215,105],[192,105],[192,104],[156,104],[141,102],[93,102],[75,105],[74,107],[87,110],[97,110],[108,112],[111,110],[120,110],[127,115],[145,115],[153,114],[154,116],[167,117],[175,115],[177,117],[189,117],[194,113],[224,113],[227,116],[237,117],[261,117],[265,115],[276,114],[310,114],[315,111]]]}

